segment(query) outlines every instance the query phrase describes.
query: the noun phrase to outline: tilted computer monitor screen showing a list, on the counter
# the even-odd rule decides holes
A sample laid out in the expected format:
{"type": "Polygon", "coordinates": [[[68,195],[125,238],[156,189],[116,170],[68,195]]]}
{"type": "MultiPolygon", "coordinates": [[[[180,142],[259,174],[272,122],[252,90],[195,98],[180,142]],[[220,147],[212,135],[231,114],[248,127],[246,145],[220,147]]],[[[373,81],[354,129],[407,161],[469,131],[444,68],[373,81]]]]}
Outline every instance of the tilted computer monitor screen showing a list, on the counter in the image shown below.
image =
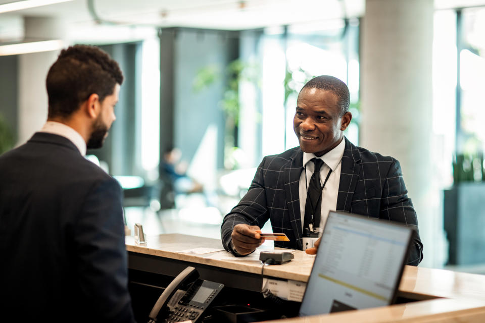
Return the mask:
{"type": "Polygon", "coordinates": [[[413,230],[330,211],[300,316],[389,305],[413,230]]]}

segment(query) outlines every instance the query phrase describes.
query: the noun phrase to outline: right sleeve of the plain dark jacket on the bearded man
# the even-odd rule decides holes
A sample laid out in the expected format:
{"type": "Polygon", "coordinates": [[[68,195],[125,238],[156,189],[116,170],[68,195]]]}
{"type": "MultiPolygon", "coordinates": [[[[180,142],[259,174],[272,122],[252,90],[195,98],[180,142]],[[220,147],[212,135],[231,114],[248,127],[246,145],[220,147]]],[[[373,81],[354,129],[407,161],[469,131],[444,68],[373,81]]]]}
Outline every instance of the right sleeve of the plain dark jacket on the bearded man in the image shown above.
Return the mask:
{"type": "Polygon", "coordinates": [[[80,300],[108,322],[133,322],[121,188],[112,178],[87,193],[74,228],[80,300]]]}

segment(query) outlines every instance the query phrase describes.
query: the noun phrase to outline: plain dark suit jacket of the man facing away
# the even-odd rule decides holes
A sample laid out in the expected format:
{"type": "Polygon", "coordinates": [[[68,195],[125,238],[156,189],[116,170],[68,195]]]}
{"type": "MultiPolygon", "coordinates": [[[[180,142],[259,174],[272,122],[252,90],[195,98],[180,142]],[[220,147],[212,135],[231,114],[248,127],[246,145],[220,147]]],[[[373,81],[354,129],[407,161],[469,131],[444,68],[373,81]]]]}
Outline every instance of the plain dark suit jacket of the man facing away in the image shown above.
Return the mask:
{"type": "Polygon", "coordinates": [[[134,321],[121,196],[62,136],[0,156],[2,318],[134,321]]]}

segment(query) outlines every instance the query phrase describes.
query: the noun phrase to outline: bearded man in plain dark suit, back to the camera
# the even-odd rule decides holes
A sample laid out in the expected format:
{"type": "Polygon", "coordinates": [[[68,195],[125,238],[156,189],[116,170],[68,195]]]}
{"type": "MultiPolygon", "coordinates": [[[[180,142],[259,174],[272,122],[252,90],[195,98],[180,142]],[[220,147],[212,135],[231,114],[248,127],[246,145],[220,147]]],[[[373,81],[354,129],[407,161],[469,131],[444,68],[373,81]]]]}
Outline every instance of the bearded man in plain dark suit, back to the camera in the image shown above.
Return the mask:
{"type": "Polygon", "coordinates": [[[84,158],[116,119],[123,75],[99,48],[61,51],[49,116],[0,156],[0,308],[22,320],[133,322],[121,188],[84,158]]]}

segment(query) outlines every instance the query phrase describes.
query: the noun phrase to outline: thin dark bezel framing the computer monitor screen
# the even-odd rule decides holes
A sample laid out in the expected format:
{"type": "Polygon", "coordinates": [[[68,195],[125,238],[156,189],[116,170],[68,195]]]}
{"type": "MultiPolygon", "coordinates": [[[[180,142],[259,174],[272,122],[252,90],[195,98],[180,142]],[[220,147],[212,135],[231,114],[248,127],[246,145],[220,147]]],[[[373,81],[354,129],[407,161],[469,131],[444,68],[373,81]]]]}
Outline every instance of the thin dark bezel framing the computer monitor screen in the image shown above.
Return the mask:
{"type": "MultiPolygon", "coordinates": [[[[402,279],[402,276],[403,276],[404,266],[406,265],[406,261],[407,261],[408,256],[409,256],[409,251],[411,249],[411,244],[413,243],[414,237],[416,235],[416,230],[413,227],[406,226],[406,225],[404,225],[404,224],[402,224],[400,222],[393,222],[393,221],[389,221],[389,220],[382,220],[382,219],[379,219],[379,218],[369,218],[369,217],[366,217],[366,216],[361,216],[359,214],[347,213],[347,212],[341,212],[341,211],[331,211],[330,210],[328,212],[327,219],[330,217],[330,214],[331,213],[334,213],[336,216],[353,217],[353,218],[357,218],[357,219],[365,220],[365,221],[379,221],[383,225],[399,227],[401,229],[405,229],[405,230],[408,231],[409,234],[408,234],[408,241],[407,241],[405,256],[402,257],[401,265],[399,267],[400,268],[399,269],[399,275],[396,276],[396,281],[394,282],[393,293],[392,293],[391,301],[390,301],[389,304],[387,304],[387,306],[394,304],[396,302],[396,298],[397,298],[397,294],[398,294],[398,290],[399,290],[399,285],[401,283],[401,279],[402,279]]],[[[325,222],[325,226],[323,227],[322,236],[325,233],[326,227],[327,227],[327,222],[325,222]]],[[[308,284],[310,283],[310,279],[311,279],[311,277],[313,275],[313,271],[314,271],[314,268],[315,268],[315,263],[317,262],[318,256],[323,252],[322,250],[323,249],[318,249],[318,251],[317,251],[317,254],[315,256],[315,260],[314,260],[313,265],[312,265],[312,271],[310,272],[310,276],[308,277],[307,287],[308,287],[308,284]]],[[[302,298],[302,304],[300,305],[300,310],[298,311],[298,315],[299,316],[301,316],[301,306],[303,305],[303,303],[305,301],[305,297],[307,297],[307,290],[308,290],[308,288],[305,288],[305,293],[303,294],[303,298],[302,298]]],[[[329,312],[329,313],[331,313],[331,312],[329,312]]],[[[322,314],[329,314],[329,313],[320,313],[320,314],[312,314],[312,315],[322,315],[322,314]]]]}

